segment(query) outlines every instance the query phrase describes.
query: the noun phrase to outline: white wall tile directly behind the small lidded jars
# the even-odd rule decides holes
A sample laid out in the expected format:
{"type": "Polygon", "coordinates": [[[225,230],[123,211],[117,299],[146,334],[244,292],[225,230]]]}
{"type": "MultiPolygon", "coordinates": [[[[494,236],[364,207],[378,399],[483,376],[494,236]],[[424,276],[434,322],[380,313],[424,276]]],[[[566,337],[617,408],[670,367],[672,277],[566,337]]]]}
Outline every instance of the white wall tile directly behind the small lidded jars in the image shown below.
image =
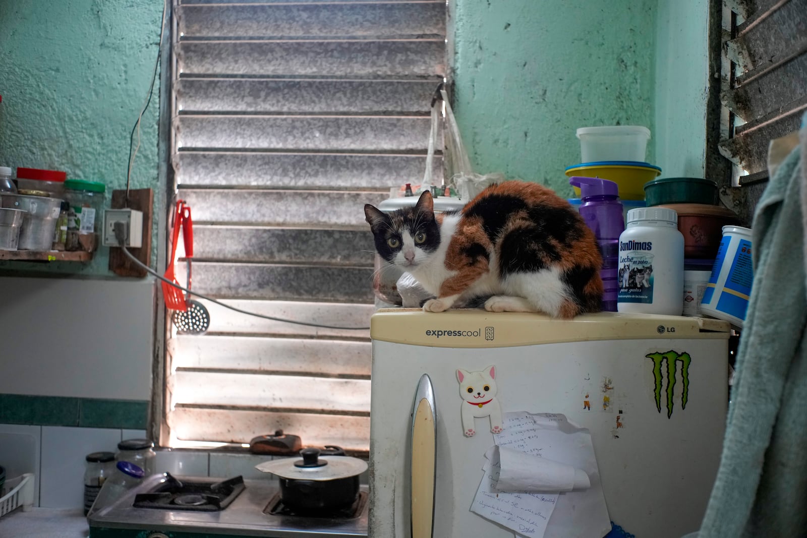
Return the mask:
{"type": "Polygon", "coordinates": [[[119,429],[99,427],[42,427],[40,506],[82,508],[86,455],[115,452],[119,429]]]}

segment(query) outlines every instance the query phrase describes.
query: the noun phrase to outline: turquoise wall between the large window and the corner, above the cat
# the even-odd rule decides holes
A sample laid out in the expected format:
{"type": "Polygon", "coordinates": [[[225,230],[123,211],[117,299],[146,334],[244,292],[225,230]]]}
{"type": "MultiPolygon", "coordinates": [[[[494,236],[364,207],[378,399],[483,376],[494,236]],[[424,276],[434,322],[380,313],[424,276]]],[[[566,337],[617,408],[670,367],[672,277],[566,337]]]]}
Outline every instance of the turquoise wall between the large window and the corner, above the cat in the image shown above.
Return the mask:
{"type": "Polygon", "coordinates": [[[455,111],[475,171],[571,195],[577,127],[653,131],[656,4],[454,0],[455,111]]]}

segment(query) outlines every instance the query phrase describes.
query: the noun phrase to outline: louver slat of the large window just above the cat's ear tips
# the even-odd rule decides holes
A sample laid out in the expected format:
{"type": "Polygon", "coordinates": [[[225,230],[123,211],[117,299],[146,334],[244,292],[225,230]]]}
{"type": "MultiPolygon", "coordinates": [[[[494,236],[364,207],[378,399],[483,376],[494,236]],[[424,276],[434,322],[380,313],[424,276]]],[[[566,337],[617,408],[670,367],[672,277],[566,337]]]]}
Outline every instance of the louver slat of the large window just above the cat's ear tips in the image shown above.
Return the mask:
{"type": "MultiPolygon", "coordinates": [[[[422,155],[180,152],[174,170],[180,185],[389,190],[420,184],[422,155]]],[[[433,160],[433,183],[443,177],[442,157],[433,160]]]]}

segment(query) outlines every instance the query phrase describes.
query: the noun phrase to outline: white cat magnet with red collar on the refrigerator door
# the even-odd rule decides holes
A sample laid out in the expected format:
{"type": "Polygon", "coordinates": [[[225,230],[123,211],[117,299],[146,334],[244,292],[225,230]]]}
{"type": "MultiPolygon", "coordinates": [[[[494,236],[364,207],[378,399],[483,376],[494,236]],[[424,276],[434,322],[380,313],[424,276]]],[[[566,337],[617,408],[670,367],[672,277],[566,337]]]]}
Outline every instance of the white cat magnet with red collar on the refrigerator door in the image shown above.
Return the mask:
{"type": "Polygon", "coordinates": [[[462,433],[466,437],[473,437],[476,433],[475,418],[490,416],[493,433],[500,433],[503,429],[495,377],[496,367],[492,365],[479,372],[457,370],[459,394],[462,396],[462,433]]]}

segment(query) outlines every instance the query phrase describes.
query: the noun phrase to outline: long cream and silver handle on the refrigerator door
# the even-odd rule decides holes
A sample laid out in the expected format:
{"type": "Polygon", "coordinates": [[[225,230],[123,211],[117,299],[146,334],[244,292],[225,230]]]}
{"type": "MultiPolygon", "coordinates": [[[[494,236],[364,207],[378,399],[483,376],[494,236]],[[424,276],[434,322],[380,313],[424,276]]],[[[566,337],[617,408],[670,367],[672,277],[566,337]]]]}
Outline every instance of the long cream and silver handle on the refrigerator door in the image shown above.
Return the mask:
{"type": "Polygon", "coordinates": [[[420,376],[412,405],[410,476],[412,538],[432,538],[434,532],[434,475],[437,473],[437,406],[427,374],[420,376]]]}

